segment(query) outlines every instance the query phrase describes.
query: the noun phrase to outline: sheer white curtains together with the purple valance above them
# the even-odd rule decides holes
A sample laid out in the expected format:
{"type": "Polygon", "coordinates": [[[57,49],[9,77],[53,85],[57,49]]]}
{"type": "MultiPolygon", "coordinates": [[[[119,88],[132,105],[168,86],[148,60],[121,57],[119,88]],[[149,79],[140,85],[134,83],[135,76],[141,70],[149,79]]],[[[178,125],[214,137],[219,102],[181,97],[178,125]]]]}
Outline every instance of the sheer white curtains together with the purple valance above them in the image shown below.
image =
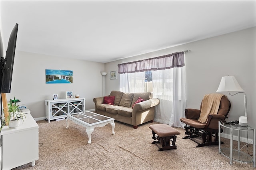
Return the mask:
{"type": "Polygon", "coordinates": [[[145,91],[144,71],[151,71],[153,96],[160,100],[154,121],[184,127],[180,121],[186,108],[184,51],[118,64],[120,91],[145,91]]]}

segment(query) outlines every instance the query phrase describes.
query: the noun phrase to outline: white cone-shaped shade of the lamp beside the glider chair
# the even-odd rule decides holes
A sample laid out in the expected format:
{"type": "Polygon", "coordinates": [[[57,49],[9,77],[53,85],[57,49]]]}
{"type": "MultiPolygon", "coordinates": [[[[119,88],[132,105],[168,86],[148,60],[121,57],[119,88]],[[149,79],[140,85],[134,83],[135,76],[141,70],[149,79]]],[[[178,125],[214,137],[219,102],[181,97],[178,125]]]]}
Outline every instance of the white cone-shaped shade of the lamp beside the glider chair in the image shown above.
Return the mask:
{"type": "Polygon", "coordinates": [[[219,91],[244,91],[236,78],[232,75],[224,76],[221,78],[220,85],[218,87],[217,92],[219,91]]]}

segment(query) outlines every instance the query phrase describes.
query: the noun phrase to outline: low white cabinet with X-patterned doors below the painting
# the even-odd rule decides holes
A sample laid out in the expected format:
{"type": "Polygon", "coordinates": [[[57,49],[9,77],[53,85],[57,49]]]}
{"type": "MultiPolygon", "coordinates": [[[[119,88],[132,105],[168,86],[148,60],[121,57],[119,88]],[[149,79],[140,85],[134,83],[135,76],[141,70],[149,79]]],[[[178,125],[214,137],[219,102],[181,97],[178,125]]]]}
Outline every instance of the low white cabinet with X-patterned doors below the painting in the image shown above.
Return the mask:
{"type": "Polygon", "coordinates": [[[85,111],[85,99],[57,99],[45,101],[45,117],[50,120],[65,118],[72,113],[81,113],[85,111]]]}

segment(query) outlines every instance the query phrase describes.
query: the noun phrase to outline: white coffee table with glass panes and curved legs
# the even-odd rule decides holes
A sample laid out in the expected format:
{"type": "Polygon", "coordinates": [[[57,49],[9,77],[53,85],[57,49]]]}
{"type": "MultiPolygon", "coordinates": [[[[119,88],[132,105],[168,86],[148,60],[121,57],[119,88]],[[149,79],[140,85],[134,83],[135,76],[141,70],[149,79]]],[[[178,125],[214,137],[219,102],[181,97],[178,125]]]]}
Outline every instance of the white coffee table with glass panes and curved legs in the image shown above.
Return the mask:
{"type": "Polygon", "coordinates": [[[89,138],[88,144],[90,144],[92,142],[91,135],[92,135],[92,132],[94,131],[95,127],[104,127],[105,125],[110,123],[110,125],[112,125],[112,134],[115,134],[115,132],[114,132],[114,128],[115,128],[114,120],[115,119],[113,119],[111,117],[106,117],[106,116],[99,115],[97,113],[93,113],[90,111],[67,115],[67,119],[66,119],[67,127],[66,128],[69,127],[68,120],[71,120],[74,123],[86,128],[86,133],[89,138]]]}

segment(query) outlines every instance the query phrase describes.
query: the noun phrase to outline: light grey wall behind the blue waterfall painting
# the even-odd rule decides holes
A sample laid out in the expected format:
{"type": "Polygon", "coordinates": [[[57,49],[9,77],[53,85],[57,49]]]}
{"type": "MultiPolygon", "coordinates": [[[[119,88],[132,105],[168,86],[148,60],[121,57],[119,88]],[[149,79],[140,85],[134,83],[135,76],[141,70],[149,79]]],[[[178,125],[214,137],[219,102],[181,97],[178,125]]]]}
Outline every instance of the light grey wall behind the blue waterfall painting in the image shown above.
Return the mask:
{"type": "Polygon", "coordinates": [[[93,98],[102,96],[103,70],[104,63],[16,51],[11,93],[6,98],[16,96],[37,120],[45,118],[44,101],[53,94],[66,98],[66,91],[85,98],[86,110],[94,109],[93,98]],[[73,83],[46,84],[45,69],[73,70],[73,83]]]}

